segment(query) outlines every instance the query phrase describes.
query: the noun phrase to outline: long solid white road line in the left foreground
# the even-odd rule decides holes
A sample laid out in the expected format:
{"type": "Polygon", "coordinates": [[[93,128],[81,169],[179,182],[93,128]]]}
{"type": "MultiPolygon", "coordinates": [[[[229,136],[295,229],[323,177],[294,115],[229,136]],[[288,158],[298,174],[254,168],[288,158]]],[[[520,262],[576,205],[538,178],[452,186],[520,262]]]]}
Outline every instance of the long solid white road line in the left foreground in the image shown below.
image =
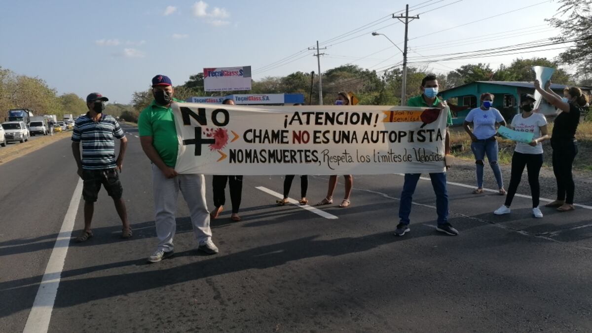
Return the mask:
{"type": "Polygon", "coordinates": [[[60,284],[62,270],[70,245],[70,236],[74,229],[74,220],[78,212],[78,204],[82,196],[82,179],[78,178],[78,184],[72,194],[70,206],[62,222],[62,229],[57,235],[56,244],[53,246],[52,255],[49,257],[41,284],[37,290],[37,296],[33,302],[33,308],[27,318],[27,324],[23,332],[44,333],[49,328],[49,321],[52,318],[53,303],[56,301],[57,287],[60,284]]]}

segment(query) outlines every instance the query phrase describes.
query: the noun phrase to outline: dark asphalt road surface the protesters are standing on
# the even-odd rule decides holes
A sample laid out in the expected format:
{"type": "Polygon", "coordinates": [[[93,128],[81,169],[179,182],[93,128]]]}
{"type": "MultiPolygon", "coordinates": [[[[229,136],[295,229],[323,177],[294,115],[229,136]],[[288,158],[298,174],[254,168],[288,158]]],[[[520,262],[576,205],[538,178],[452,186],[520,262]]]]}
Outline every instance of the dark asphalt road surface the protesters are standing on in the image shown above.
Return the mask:
{"type": "MultiPolygon", "coordinates": [[[[150,163],[137,130],[124,129],[134,236],[119,238],[101,190],[95,237],[67,249],[49,332],[592,331],[592,210],[543,209],[533,219],[530,199],[516,197],[512,214],[494,216],[502,197],[449,185],[461,234],[446,236],[422,180],[411,232],[395,237],[400,175],[356,176],[351,207],[323,208],[336,219],[277,207],[259,187],[281,193],[282,177],[245,177],[242,222],[230,222],[227,194],[227,211],[211,223],[214,256],[195,251],[180,198],[175,257],[146,264],[157,242],[150,163]]],[[[309,182],[314,203],[327,177],[309,182]]],[[[1,332],[24,329],[77,184],[67,139],[0,165],[1,332]]],[[[299,192],[296,177],[292,197],[299,192]]],[[[82,226],[80,204],[74,236],[82,226]]]]}

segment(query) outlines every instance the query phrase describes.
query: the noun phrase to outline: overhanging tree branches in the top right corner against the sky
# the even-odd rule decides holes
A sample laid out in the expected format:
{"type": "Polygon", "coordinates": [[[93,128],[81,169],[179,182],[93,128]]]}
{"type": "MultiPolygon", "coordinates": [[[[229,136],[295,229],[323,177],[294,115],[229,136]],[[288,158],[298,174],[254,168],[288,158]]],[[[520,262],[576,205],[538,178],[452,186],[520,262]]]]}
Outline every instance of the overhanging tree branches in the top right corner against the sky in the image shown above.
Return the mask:
{"type": "Polygon", "coordinates": [[[592,0],[558,0],[559,8],[554,17],[549,18],[552,27],[559,28],[561,34],[552,37],[554,41],[578,40],[562,44],[567,49],[559,54],[565,65],[578,68],[578,76],[592,73],[592,0]]]}

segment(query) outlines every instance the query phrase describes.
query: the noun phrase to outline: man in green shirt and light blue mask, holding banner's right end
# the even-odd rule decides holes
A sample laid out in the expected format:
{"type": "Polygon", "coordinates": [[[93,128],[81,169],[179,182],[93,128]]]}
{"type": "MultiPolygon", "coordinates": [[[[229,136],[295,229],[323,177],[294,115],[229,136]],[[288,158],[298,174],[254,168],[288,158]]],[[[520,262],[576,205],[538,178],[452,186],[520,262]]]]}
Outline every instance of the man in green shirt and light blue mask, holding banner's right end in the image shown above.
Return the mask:
{"type": "MultiPolygon", "coordinates": [[[[422,94],[416,97],[411,97],[407,101],[410,107],[432,107],[446,110],[448,113],[446,119],[446,139],[445,139],[445,153],[450,153],[450,137],[448,133],[448,126],[452,125],[452,114],[446,102],[441,101],[436,95],[438,93],[438,81],[436,76],[428,75],[422,80],[422,94]]],[[[448,168],[448,167],[447,167],[448,168]]],[[[417,181],[421,174],[405,174],[405,182],[403,184],[403,192],[401,193],[401,201],[399,203],[399,224],[395,229],[395,235],[403,236],[409,232],[409,215],[411,214],[411,203],[413,202],[413,193],[417,186],[417,181]]],[[[447,233],[448,235],[456,236],[458,231],[448,223],[448,192],[446,191],[446,172],[435,172],[430,174],[432,180],[432,187],[436,193],[436,213],[438,215],[437,228],[439,232],[447,233]]]]}

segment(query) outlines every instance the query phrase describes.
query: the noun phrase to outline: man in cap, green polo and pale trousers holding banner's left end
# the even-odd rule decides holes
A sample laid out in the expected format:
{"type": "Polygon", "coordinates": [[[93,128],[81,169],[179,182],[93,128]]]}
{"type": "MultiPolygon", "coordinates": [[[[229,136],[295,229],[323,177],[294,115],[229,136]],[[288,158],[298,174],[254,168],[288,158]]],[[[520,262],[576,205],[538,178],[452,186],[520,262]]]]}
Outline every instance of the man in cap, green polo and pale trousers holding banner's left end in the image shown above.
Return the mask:
{"type": "Polygon", "coordinates": [[[154,101],[142,110],[138,121],[142,149],[152,161],[156,236],[159,240],[148,261],[158,262],[173,255],[179,191],[191,212],[198,249],[216,254],[218,248],[211,239],[210,212],[205,203],[204,175],[178,174],[175,171],[179,142],[171,105],[182,101],[173,98],[172,82],[165,75],[156,75],[152,79],[152,93],[154,101]]]}

